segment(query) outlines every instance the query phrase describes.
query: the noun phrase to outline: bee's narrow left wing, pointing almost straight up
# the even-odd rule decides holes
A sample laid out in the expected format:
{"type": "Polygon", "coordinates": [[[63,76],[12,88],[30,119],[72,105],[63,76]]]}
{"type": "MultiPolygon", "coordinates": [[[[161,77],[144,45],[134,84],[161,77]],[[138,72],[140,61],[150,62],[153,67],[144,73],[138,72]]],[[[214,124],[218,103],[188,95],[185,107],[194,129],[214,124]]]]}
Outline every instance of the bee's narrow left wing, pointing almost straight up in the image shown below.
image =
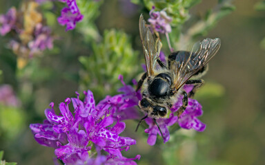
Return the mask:
{"type": "Polygon", "coordinates": [[[155,63],[157,58],[159,58],[162,43],[159,38],[155,41],[149,27],[146,25],[146,21],[144,21],[142,14],[139,19],[139,32],[141,36],[141,44],[144,50],[144,58],[146,60],[147,76],[151,76],[154,74],[155,63]]]}

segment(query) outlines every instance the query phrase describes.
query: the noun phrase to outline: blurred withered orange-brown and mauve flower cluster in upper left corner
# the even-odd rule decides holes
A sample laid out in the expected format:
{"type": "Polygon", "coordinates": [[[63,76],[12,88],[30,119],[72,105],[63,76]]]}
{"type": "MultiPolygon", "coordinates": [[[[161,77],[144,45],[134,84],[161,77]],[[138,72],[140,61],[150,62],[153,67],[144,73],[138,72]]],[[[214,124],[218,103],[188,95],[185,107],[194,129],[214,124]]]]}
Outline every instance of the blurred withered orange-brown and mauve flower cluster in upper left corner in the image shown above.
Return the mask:
{"type": "Polygon", "coordinates": [[[18,67],[24,67],[29,58],[41,54],[43,50],[52,49],[53,36],[48,26],[43,25],[43,17],[37,11],[38,3],[34,1],[21,5],[20,10],[10,8],[0,16],[0,33],[12,32],[8,44],[18,56],[18,67]]]}

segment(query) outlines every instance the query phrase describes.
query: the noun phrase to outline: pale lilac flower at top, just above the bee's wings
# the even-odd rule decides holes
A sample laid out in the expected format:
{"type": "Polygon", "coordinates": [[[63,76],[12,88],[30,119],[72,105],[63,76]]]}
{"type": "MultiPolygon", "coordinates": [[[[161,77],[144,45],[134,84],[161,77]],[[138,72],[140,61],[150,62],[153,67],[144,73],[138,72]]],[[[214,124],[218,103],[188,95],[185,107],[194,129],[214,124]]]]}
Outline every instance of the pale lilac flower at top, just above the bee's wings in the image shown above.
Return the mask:
{"type": "Polygon", "coordinates": [[[148,22],[150,23],[152,32],[160,32],[161,34],[171,32],[170,22],[172,19],[168,17],[164,10],[155,12],[155,6],[153,6],[152,10],[149,12],[149,15],[150,19],[148,19],[148,22]]]}

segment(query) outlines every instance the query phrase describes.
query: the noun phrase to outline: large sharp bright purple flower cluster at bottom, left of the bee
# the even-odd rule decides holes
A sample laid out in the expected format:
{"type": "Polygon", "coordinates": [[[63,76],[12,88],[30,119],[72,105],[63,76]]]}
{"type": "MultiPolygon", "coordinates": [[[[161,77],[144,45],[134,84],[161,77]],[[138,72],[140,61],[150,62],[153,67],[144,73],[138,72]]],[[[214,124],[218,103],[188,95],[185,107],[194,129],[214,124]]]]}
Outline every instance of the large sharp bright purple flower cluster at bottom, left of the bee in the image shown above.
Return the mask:
{"type": "Polygon", "coordinates": [[[136,141],[119,135],[126,125],[119,121],[119,116],[112,115],[111,104],[96,106],[92,92],[84,94],[84,102],[79,100],[79,94],[77,98],[67,98],[66,103],[61,102],[61,115],[55,114],[51,103],[51,109],[45,111],[47,120],[43,124],[30,124],[35,140],[56,148],[55,155],[65,164],[136,164],[133,160],[139,159],[139,155],[133,159],[121,155],[122,150],[128,151],[136,141]],[[75,115],[69,110],[71,101],[75,115]],[[114,120],[117,122],[111,126],[114,120]],[[108,155],[101,155],[102,150],[108,155]]]}

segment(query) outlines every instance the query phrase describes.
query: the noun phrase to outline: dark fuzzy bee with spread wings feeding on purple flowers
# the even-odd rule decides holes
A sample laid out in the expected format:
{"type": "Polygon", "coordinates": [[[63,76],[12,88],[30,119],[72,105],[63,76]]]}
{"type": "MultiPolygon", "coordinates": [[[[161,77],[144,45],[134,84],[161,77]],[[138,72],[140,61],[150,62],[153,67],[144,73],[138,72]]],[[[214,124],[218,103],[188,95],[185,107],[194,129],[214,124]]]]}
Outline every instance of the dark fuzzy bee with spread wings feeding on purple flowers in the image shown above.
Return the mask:
{"type": "MultiPolygon", "coordinates": [[[[190,78],[199,78],[205,74],[207,63],[219,50],[221,40],[204,39],[195,43],[190,52],[173,52],[168,56],[167,64],[164,64],[159,60],[161,41],[159,37],[153,37],[142,14],[139,19],[139,32],[146,61],[146,73],[141,76],[136,91],[141,89],[142,99],[139,101],[139,107],[147,113],[139,124],[147,117],[153,118],[155,124],[158,118],[166,118],[168,111],[177,101],[177,96],[182,94],[182,106],[176,111],[179,117],[188,105],[188,97],[192,97],[195,90],[204,83],[202,79],[190,78]],[[185,84],[193,85],[189,94],[181,88],[185,84]]],[[[158,124],[157,126],[159,128],[158,124]]],[[[161,133],[160,128],[159,131],[161,133]]]]}

